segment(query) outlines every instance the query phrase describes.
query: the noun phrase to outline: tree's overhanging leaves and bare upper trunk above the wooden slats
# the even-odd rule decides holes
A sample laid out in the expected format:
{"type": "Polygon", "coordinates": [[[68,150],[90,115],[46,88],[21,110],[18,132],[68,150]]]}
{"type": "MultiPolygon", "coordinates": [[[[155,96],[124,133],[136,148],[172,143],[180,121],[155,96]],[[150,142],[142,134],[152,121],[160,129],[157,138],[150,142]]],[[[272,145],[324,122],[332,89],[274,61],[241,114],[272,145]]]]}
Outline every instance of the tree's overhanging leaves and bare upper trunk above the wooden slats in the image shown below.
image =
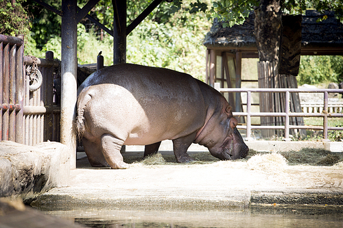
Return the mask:
{"type": "MultiPolygon", "coordinates": [[[[224,26],[242,24],[248,14],[255,12],[255,38],[260,61],[278,61],[282,14],[303,14],[309,8],[318,12],[335,12],[343,21],[340,0],[226,0],[214,1],[211,16],[228,21],[224,26]]],[[[322,20],[326,17],[324,16],[322,20]]]]}

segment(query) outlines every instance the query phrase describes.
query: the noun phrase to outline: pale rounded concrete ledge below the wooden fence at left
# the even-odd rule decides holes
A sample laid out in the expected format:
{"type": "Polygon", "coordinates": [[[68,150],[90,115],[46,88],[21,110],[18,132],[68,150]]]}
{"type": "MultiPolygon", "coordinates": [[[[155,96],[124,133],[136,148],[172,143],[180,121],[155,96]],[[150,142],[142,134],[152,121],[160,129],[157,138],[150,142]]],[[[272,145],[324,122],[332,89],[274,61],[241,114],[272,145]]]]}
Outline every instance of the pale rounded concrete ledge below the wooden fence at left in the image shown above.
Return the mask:
{"type": "Polygon", "coordinates": [[[29,199],[51,188],[69,184],[67,147],[42,142],[35,147],[0,142],[0,197],[29,199]]]}

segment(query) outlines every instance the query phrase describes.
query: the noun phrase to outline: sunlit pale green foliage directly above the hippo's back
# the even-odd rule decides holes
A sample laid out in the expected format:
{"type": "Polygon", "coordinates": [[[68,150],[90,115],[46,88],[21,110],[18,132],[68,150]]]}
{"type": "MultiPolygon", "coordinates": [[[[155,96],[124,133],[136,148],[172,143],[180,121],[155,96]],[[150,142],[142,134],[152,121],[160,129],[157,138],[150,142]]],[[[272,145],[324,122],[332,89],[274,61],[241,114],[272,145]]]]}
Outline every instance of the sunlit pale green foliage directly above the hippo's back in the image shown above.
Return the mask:
{"type": "Polygon", "coordinates": [[[169,23],[145,20],[128,36],[128,62],[171,68],[204,80],[206,48],[202,40],[211,24],[202,12],[180,10],[169,23]]]}

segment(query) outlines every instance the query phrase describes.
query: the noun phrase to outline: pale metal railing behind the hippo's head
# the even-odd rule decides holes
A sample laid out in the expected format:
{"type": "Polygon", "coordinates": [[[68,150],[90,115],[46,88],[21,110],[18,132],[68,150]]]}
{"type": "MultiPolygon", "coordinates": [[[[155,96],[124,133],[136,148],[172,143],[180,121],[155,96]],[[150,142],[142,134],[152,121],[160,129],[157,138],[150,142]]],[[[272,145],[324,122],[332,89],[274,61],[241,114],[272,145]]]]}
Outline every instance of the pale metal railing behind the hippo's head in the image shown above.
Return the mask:
{"type": "Polygon", "coordinates": [[[220,83],[215,83],[215,89],[220,92],[246,92],[246,112],[233,112],[233,116],[246,116],[246,126],[238,125],[238,129],[246,129],[246,140],[252,140],[251,130],[252,129],[283,129],[285,130],[284,140],[291,140],[289,138],[289,129],[315,129],[323,131],[324,140],[328,140],[328,130],[343,130],[343,127],[328,127],[328,117],[341,117],[343,113],[331,113],[328,108],[329,92],[342,92],[338,89],[299,89],[299,88],[220,88],[220,83]],[[285,112],[251,112],[252,105],[252,92],[285,92],[285,112]],[[289,93],[290,92],[322,92],[324,93],[324,104],[323,110],[320,113],[305,113],[305,112],[289,112],[289,93]],[[284,116],[284,126],[252,126],[251,116],[284,116]],[[289,125],[289,117],[322,117],[322,126],[300,126],[300,125],[289,125]]]}

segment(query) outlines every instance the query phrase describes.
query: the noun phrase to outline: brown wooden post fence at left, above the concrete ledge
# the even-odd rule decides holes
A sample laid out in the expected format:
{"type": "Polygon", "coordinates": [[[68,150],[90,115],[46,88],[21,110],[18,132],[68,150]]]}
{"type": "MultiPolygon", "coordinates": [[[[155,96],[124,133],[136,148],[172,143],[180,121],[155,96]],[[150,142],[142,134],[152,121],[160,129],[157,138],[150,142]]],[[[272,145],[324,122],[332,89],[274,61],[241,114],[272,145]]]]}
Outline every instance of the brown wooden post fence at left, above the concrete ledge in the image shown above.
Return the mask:
{"type": "Polygon", "coordinates": [[[47,51],[46,59],[24,57],[23,53],[23,36],[0,34],[0,139],[28,145],[58,141],[60,107],[53,101],[58,60],[51,51],[47,51]],[[30,91],[32,74],[27,74],[27,68],[33,64],[43,81],[30,91]]]}

